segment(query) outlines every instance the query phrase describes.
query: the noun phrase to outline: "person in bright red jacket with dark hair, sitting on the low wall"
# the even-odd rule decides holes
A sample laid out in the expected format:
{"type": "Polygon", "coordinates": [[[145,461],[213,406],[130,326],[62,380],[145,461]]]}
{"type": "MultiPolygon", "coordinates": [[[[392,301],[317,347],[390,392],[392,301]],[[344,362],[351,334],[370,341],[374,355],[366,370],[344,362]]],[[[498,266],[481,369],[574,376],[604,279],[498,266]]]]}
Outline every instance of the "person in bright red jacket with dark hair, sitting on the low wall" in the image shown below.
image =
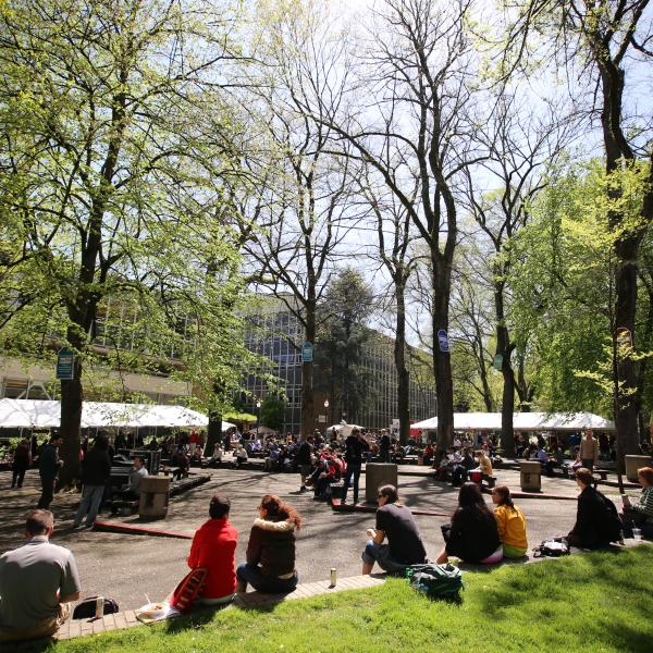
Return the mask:
{"type": "Polygon", "coordinates": [[[209,505],[210,519],[195,533],[188,567],[207,569],[198,603],[219,605],[232,601],[236,590],[235,553],[238,531],[229,522],[231,502],[214,494],[209,505]]]}

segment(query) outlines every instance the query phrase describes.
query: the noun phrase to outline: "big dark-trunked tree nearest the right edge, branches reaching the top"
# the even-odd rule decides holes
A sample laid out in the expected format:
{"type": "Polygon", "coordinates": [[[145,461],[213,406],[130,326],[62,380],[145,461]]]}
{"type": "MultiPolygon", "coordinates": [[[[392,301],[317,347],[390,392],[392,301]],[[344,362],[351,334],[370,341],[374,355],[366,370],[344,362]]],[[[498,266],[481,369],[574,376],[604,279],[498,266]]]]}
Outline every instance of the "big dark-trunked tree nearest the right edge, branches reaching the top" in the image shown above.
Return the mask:
{"type": "MultiPolygon", "coordinates": [[[[650,125],[625,113],[628,96],[628,62],[650,61],[651,21],[649,0],[557,1],[521,0],[508,3],[512,24],[508,29],[508,53],[505,72],[508,75],[531,56],[541,58],[541,40],[529,48],[531,34],[542,35],[551,44],[552,57],[578,73],[580,84],[590,89],[590,109],[600,119],[605,171],[608,174],[633,170],[638,161],[649,165],[649,184],[641,205],[641,220],[627,220],[618,201],[624,188],[605,185],[611,202],[609,227],[614,238],[614,324],[627,329],[637,345],[637,270],[638,254],[646,226],[653,221],[653,147],[650,125]],[[596,93],[594,93],[596,89],[596,93]],[[599,104],[594,107],[594,104],[599,104]]],[[[557,63],[556,61],[556,63],[557,63]]],[[[576,79],[572,79],[575,83],[576,79]]],[[[618,177],[614,177],[618,178],[618,177]]],[[[614,353],[615,421],[623,453],[639,451],[637,435],[636,364],[631,356],[617,357],[617,333],[611,334],[614,353]]]]}

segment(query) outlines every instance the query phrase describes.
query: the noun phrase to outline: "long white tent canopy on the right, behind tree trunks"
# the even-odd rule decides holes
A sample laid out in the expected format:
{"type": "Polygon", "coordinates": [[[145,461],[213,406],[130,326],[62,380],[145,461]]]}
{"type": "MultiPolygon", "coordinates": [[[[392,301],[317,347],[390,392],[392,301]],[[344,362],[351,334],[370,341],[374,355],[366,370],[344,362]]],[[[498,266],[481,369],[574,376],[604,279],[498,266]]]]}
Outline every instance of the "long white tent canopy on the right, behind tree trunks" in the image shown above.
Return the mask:
{"type": "MultiPolygon", "coordinates": [[[[515,431],[614,431],[615,424],[593,412],[515,412],[515,431]]],[[[438,418],[410,424],[411,429],[434,431],[438,418]]],[[[454,412],[455,431],[501,431],[501,412],[454,412]]]]}

